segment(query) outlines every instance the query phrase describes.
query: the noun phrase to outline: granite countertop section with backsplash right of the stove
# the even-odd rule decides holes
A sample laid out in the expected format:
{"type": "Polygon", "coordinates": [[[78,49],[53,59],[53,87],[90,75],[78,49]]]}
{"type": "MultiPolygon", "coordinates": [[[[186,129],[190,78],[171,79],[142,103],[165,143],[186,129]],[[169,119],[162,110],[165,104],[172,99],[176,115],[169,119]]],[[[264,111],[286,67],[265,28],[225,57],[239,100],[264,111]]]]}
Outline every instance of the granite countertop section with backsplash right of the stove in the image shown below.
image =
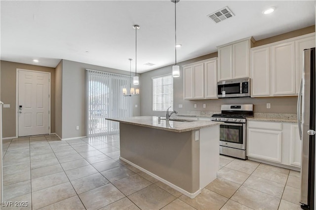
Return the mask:
{"type": "Polygon", "coordinates": [[[247,120],[297,123],[297,114],[254,113],[254,116],[247,117],[247,120]]]}

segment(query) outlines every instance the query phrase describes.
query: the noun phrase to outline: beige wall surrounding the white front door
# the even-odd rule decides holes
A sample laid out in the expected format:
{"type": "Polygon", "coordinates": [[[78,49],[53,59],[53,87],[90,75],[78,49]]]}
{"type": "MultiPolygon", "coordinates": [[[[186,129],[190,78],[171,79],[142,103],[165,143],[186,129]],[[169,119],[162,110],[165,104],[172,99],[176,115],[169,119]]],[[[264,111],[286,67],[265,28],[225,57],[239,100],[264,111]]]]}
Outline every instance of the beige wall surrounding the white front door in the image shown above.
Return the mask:
{"type": "Polygon", "coordinates": [[[37,70],[51,73],[51,133],[55,133],[55,69],[28,64],[0,61],[0,95],[4,104],[10,108],[2,108],[2,137],[16,137],[16,69],[37,70]]]}

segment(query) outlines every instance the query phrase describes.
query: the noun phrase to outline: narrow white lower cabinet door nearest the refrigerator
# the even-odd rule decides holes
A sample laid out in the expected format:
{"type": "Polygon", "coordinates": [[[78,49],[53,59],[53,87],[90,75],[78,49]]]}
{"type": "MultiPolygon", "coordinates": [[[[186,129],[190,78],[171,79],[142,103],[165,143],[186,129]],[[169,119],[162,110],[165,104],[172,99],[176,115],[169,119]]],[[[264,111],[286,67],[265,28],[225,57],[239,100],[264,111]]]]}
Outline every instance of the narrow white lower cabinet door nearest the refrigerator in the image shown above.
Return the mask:
{"type": "Polygon", "coordinates": [[[300,140],[298,125],[291,125],[289,163],[301,167],[302,141],[300,140]]]}

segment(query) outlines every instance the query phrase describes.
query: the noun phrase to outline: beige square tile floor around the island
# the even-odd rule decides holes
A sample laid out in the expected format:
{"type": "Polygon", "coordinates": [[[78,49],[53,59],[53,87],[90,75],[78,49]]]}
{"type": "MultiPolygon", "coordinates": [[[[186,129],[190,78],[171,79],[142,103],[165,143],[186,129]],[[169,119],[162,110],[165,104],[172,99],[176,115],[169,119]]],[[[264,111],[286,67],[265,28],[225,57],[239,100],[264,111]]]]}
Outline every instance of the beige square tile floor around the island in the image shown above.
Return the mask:
{"type": "Polygon", "coordinates": [[[119,135],[3,140],[5,202],[71,210],[300,210],[300,173],[220,156],[218,178],[195,199],[119,160],[119,135]],[[24,202],[24,203],[23,203],[24,202]]]}

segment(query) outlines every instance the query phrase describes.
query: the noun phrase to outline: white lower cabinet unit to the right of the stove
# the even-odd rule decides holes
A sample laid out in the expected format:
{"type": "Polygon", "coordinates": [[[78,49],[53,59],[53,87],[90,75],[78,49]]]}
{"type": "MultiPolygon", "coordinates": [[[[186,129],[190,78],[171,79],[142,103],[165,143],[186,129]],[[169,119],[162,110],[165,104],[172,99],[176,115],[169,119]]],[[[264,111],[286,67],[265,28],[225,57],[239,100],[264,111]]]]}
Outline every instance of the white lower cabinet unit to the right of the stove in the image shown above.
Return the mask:
{"type": "Polygon", "coordinates": [[[247,156],[301,167],[298,125],[285,122],[248,121],[247,156]]]}

